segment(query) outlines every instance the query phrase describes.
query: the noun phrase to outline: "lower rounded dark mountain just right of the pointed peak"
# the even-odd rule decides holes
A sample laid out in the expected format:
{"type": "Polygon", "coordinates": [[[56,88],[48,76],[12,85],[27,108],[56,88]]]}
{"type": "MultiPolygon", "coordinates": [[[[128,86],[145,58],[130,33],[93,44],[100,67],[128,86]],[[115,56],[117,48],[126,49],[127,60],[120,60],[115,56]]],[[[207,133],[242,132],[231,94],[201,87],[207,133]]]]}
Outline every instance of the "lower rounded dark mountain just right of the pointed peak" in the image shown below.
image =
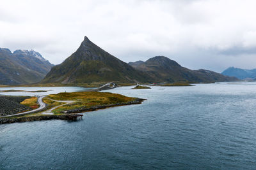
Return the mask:
{"type": "Polygon", "coordinates": [[[200,83],[238,80],[205,69],[191,70],[164,56],[152,57],[145,62],[129,62],[129,64],[156,82],[189,81],[200,83]]]}

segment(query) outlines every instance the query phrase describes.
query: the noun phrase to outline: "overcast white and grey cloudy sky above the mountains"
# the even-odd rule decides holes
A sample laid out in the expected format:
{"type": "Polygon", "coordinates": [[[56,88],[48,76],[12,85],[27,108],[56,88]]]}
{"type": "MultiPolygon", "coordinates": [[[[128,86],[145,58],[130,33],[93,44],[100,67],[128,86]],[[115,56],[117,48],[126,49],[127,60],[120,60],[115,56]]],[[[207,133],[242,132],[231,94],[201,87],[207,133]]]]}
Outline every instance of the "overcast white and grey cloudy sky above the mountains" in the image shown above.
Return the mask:
{"type": "Polygon", "coordinates": [[[0,0],[0,47],[52,64],[84,36],[125,62],[164,55],[189,69],[256,68],[254,0],[0,0]]]}

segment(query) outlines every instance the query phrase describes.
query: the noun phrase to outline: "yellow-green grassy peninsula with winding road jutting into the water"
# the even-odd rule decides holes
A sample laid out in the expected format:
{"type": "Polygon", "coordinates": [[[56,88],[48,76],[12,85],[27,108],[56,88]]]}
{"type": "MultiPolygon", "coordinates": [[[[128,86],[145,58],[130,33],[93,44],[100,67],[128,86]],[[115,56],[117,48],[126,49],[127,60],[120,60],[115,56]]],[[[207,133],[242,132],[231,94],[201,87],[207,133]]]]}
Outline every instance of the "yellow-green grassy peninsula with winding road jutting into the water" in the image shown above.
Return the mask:
{"type": "Polygon", "coordinates": [[[83,116],[77,115],[77,113],[115,106],[141,104],[145,100],[110,92],[63,92],[39,97],[37,102],[35,97],[24,97],[24,99],[24,101],[17,103],[23,109],[21,113],[14,113],[13,111],[11,114],[2,113],[0,124],[51,119],[76,120],[77,117],[83,116]]]}

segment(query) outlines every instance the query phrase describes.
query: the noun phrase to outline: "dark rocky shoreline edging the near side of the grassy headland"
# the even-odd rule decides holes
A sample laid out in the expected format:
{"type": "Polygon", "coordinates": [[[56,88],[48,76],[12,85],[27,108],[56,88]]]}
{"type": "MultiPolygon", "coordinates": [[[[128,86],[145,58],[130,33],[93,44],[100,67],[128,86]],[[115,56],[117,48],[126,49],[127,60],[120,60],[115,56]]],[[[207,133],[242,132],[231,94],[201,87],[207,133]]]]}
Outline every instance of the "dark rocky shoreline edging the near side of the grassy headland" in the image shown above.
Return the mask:
{"type": "Polygon", "coordinates": [[[73,120],[76,121],[77,117],[83,117],[83,115],[79,115],[77,113],[82,112],[89,112],[89,111],[95,111],[95,110],[102,110],[105,108],[112,108],[116,106],[127,106],[132,104],[141,104],[146,99],[140,99],[136,98],[134,101],[129,101],[125,103],[116,103],[116,104],[103,104],[99,106],[93,106],[91,108],[77,108],[74,110],[67,110],[66,113],[63,115],[35,115],[31,117],[4,117],[0,118],[0,124],[13,124],[13,123],[21,123],[21,122],[34,122],[34,121],[41,121],[41,120],[73,120]]]}

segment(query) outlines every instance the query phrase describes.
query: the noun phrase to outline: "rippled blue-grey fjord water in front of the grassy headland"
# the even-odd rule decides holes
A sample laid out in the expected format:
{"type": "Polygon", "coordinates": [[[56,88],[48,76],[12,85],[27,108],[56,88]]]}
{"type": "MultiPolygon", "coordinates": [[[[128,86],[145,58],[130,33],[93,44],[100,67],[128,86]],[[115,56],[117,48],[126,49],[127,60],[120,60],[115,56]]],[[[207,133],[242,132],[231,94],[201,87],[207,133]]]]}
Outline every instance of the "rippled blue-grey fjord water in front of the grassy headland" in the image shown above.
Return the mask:
{"type": "Polygon", "coordinates": [[[0,125],[0,169],[255,169],[256,84],[111,90],[143,104],[0,125]]]}

